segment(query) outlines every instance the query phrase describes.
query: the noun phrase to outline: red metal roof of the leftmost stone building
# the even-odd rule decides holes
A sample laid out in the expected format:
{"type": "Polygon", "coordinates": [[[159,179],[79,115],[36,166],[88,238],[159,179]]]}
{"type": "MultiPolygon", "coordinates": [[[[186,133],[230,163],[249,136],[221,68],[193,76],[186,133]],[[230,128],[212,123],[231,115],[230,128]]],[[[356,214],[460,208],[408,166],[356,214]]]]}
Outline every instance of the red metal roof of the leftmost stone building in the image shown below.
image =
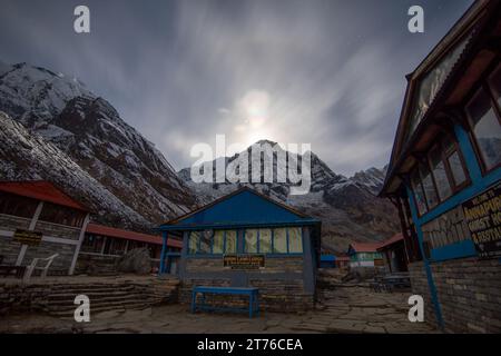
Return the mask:
{"type": "Polygon", "coordinates": [[[89,211],[84,205],[47,180],[0,181],[0,191],[89,211]]]}

